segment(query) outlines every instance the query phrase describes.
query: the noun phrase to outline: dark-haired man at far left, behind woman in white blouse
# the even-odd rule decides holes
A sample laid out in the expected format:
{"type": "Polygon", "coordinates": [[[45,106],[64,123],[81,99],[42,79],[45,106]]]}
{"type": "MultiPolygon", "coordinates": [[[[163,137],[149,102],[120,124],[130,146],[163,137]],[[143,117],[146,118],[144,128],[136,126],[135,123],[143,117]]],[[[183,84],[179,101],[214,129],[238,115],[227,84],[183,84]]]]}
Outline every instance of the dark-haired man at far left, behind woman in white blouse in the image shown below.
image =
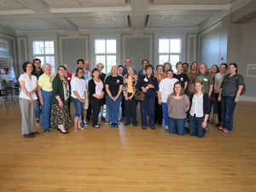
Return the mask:
{"type": "MultiPolygon", "coordinates": [[[[35,70],[33,70],[32,75],[35,75],[37,78],[40,77],[41,74],[43,74],[43,69],[41,68],[41,60],[39,60],[38,58],[33,60],[33,63],[35,65],[35,70]]],[[[38,96],[38,91],[36,91],[36,95],[38,96]]],[[[39,102],[39,97],[37,100],[35,100],[35,109],[34,109],[34,113],[36,116],[36,123],[38,126],[40,126],[40,113],[41,113],[41,104],[39,102]]]]}

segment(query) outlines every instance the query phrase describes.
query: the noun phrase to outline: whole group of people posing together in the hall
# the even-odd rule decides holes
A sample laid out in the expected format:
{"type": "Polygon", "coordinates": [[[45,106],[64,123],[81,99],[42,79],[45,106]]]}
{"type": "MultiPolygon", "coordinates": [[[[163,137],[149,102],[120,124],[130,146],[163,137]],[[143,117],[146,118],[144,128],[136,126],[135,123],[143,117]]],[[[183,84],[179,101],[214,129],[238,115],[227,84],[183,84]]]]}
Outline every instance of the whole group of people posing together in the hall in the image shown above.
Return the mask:
{"type": "Polygon", "coordinates": [[[125,66],[113,66],[108,74],[102,73],[102,63],[90,70],[90,62],[77,61],[77,70],[68,73],[68,65],[58,67],[58,73],[51,73],[51,66],[35,59],[23,64],[24,72],[20,75],[20,111],[22,115],[21,134],[32,138],[38,135],[33,124],[44,132],[58,130],[68,134],[64,125],[71,122],[70,105],[73,102],[75,115],[73,131],[84,130],[86,117],[91,115],[94,128],[102,128],[98,117],[118,127],[119,121],[126,119],[125,126],[137,126],[137,104],[140,102],[143,130],[148,126],[154,130],[155,124],[164,122],[171,134],[204,137],[207,121],[215,123],[218,116],[219,130],[233,129],[233,114],[239,101],[244,80],[237,74],[236,63],[222,63],[218,68],[213,65],[211,71],[207,65],[196,61],[190,64],[177,62],[177,73],[173,73],[170,62],[156,67],[148,60],[142,61],[143,68],[138,74],[131,65],[131,59],[125,59],[125,66]],[[188,69],[190,68],[190,71],[188,69]],[[143,96],[137,98],[136,95],[143,96]],[[103,105],[106,104],[106,116],[103,105]],[[120,115],[121,106],[121,115],[120,115]],[[213,115],[209,115],[213,106],[213,115]],[[92,114],[91,114],[92,113],[92,114]],[[189,125],[187,122],[189,119],[189,125]]]}

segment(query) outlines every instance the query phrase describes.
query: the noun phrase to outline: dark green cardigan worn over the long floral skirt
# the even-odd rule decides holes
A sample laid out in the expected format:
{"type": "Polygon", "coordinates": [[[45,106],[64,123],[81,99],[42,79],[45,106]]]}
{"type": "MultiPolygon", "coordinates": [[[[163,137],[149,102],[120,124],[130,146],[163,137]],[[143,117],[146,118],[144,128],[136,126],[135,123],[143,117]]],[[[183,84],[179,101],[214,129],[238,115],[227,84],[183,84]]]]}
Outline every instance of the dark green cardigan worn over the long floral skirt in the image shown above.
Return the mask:
{"type": "MultiPolygon", "coordinates": [[[[64,78],[67,80],[66,77],[64,77],[64,78]]],[[[68,87],[69,87],[69,84],[68,84],[68,87]]],[[[59,102],[55,96],[60,96],[61,101],[63,103],[65,102],[64,88],[63,88],[63,84],[62,84],[60,77],[55,77],[55,79],[53,79],[53,81],[52,81],[51,104],[59,104],[59,102]]],[[[71,96],[71,94],[70,94],[70,87],[69,87],[69,98],[68,98],[69,101],[71,100],[70,96],[71,96]]]]}

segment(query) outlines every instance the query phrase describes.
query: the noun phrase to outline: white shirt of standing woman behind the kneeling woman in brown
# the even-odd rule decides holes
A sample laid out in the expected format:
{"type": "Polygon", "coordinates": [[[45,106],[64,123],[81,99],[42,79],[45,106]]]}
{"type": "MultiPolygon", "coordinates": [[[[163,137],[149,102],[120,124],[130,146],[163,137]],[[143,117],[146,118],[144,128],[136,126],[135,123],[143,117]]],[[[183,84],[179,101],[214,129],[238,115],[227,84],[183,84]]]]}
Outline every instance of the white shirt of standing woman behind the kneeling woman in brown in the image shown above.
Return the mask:
{"type": "Polygon", "coordinates": [[[162,79],[159,84],[159,90],[161,92],[161,100],[162,102],[167,102],[168,96],[173,92],[173,86],[178,80],[175,78],[162,79]]]}

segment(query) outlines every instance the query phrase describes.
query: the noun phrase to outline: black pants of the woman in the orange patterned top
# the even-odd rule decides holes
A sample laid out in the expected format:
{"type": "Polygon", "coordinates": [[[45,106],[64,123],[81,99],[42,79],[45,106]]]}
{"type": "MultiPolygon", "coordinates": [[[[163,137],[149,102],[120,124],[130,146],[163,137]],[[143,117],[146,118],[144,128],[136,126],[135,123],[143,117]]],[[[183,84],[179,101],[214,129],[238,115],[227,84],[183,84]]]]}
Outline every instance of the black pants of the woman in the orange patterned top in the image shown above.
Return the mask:
{"type": "MultiPolygon", "coordinates": [[[[131,93],[128,93],[128,97],[129,96],[131,96],[131,93]]],[[[128,124],[137,124],[137,101],[135,100],[134,96],[131,98],[131,100],[125,100],[125,118],[126,123],[128,124]]]]}

